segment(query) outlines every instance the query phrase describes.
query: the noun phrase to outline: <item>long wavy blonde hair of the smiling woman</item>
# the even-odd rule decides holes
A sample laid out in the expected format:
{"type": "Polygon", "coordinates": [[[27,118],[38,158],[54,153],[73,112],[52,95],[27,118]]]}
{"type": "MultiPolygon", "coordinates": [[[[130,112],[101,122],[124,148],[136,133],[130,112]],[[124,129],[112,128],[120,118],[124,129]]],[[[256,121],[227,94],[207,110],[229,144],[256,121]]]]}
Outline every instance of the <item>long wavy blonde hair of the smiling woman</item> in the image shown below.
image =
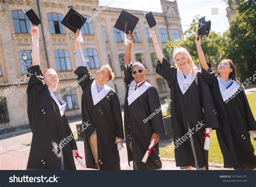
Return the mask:
{"type": "MultiPolygon", "coordinates": [[[[174,49],[172,56],[173,56],[173,61],[175,63],[175,66],[177,67],[178,70],[180,70],[180,67],[178,66],[177,61],[175,59],[175,57],[178,54],[183,54],[184,56],[187,57],[188,65],[190,66],[190,68],[192,70],[192,75],[194,76],[194,71],[198,71],[199,68],[196,65],[194,65],[191,54],[187,51],[187,49],[185,47],[177,47],[176,49],[174,49]]],[[[196,76],[195,76],[195,80],[196,80],[196,83],[197,83],[197,77],[196,76]]]]}

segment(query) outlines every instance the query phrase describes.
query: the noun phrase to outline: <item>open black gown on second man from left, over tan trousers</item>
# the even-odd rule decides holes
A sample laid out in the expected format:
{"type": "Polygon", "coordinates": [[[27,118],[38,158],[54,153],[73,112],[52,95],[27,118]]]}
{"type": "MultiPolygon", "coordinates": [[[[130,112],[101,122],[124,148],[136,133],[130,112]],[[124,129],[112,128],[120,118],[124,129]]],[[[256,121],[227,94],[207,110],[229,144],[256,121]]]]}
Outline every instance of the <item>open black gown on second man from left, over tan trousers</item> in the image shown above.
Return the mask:
{"type": "Polygon", "coordinates": [[[116,137],[124,139],[122,112],[118,95],[113,89],[93,104],[91,85],[95,80],[87,67],[80,66],[75,71],[82,88],[82,121],[85,161],[87,168],[97,169],[89,144],[89,138],[97,129],[97,146],[100,170],[120,170],[120,157],[115,144],[116,137]]]}

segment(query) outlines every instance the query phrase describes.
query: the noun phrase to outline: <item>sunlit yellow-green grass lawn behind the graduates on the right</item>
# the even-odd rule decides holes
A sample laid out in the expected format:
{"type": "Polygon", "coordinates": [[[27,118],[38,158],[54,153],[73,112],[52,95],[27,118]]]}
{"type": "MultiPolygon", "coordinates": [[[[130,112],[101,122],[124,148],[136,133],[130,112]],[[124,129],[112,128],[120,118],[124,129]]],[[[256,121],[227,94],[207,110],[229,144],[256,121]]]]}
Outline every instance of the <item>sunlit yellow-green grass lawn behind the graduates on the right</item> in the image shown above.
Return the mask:
{"type": "MultiPolygon", "coordinates": [[[[254,119],[256,119],[256,93],[247,94],[248,102],[250,103],[250,107],[252,109],[252,113],[254,115],[254,119]]],[[[254,150],[256,150],[256,144],[251,136],[251,141],[254,147],[254,150]]],[[[174,150],[170,153],[170,148],[173,147],[173,142],[165,147],[160,148],[160,154],[163,158],[175,158],[174,156],[174,150]]],[[[172,149],[171,149],[172,150],[172,149]]],[[[254,151],[256,153],[256,151],[254,151]]],[[[223,163],[223,156],[220,151],[219,143],[217,140],[217,136],[215,133],[215,130],[211,133],[211,141],[210,141],[210,150],[209,150],[209,162],[211,163],[223,163]]]]}

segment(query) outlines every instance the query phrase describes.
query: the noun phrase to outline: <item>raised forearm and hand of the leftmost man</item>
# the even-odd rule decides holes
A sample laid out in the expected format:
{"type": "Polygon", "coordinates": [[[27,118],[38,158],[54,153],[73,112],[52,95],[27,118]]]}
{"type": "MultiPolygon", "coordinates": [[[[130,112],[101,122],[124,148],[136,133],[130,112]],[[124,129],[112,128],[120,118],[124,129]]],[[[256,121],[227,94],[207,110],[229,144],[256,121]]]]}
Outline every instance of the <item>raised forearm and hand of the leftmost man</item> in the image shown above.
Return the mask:
{"type": "Polygon", "coordinates": [[[37,26],[31,25],[30,33],[32,36],[32,66],[40,65],[39,53],[39,29],[37,26]]]}

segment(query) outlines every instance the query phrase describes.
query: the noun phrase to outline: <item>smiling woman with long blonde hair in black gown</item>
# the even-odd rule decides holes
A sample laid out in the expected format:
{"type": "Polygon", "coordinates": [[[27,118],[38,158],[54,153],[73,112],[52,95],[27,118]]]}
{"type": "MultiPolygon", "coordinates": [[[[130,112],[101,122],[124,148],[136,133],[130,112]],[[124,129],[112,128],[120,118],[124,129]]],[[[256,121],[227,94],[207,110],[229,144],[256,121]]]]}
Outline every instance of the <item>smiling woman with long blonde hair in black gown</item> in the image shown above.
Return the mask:
{"type": "Polygon", "coordinates": [[[176,67],[173,67],[163,57],[153,30],[150,37],[158,57],[156,72],[167,80],[171,91],[176,165],[187,170],[192,167],[208,169],[204,131],[205,128],[210,128],[210,131],[212,128],[218,128],[213,100],[209,96],[210,89],[186,49],[180,47],[174,51],[173,60],[176,67]],[[184,136],[181,142],[180,138],[184,136]]]}

